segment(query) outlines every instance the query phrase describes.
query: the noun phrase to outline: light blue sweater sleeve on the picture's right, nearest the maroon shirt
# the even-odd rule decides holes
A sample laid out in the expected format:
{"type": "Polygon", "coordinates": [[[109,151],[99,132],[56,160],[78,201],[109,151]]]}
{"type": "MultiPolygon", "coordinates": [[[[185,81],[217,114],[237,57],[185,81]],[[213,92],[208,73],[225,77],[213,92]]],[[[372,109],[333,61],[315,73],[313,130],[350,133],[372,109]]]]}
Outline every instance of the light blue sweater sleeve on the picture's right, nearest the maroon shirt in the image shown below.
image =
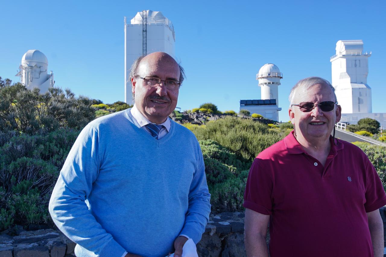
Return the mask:
{"type": "MultiPolygon", "coordinates": [[[[199,146],[198,146],[199,147],[199,146]]],[[[205,165],[201,149],[198,148],[198,161],[189,191],[189,206],[184,227],[180,235],[187,235],[196,244],[200,242],[205,226],[209,221],[210,194],[208,191],[205,165]]]]}

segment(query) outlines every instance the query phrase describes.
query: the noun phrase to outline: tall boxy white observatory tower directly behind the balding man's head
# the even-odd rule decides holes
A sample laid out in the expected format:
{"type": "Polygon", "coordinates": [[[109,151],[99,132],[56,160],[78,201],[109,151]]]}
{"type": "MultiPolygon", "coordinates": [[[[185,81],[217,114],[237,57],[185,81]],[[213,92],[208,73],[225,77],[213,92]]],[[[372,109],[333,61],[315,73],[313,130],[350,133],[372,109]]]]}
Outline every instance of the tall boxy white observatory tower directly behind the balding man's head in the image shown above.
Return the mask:
{"type": "Polygon", "coordinates": [[[130,22],[125,17],[125,103],[132,105],[130,68],[135,59],[152,52],[174,57],[175,34],[171,21],[161,12],[143,10],[130,22]]]}

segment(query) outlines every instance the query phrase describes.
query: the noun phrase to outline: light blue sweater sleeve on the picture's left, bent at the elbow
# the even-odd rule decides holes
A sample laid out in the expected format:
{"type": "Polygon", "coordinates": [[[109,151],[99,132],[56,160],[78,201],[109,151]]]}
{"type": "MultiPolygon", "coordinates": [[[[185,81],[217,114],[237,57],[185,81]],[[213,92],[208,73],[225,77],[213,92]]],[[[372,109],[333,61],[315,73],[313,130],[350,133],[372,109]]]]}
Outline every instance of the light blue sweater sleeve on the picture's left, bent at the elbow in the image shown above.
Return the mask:
{"type": "Polygon", "coordinates": [[[125,249],[98,223],[88,198],[99,172],[98,132],[87,125],[76,139],[52,191],[49,212],[71,240],[98,256],[121,257],[125,249]]]}

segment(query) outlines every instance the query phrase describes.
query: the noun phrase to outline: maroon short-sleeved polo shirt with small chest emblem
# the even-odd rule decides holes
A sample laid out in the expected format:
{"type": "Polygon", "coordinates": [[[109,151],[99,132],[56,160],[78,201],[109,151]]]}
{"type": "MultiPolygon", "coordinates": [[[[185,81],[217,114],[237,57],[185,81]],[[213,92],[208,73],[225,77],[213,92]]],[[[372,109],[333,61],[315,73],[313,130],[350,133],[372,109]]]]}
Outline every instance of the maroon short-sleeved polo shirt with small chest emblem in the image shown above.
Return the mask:
{"type": "Polygon", "coordinates": [[[293,132],[254,160],[244,207],[271,215],[271,257],[373,256],[366,212],[386,205],[381,180],[359,147],[330,142],[324,167],[293,132]]]}

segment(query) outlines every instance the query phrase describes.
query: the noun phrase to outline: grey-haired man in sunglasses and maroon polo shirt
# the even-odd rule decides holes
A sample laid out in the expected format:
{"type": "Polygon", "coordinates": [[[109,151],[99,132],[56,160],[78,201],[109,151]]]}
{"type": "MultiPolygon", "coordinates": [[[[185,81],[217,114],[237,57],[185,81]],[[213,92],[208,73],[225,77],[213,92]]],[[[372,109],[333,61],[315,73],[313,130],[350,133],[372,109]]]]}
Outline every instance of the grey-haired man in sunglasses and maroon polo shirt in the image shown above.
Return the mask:
{"type": "Polygon", "coordinates": [[[341,117],[322,78],[291,90],[294,130],[262,151],[244,194],[248,256],[383,256],[379,208],[386,196],[374,166],[355,145],[331,136],[341,117]]]}

